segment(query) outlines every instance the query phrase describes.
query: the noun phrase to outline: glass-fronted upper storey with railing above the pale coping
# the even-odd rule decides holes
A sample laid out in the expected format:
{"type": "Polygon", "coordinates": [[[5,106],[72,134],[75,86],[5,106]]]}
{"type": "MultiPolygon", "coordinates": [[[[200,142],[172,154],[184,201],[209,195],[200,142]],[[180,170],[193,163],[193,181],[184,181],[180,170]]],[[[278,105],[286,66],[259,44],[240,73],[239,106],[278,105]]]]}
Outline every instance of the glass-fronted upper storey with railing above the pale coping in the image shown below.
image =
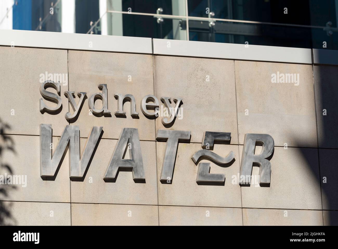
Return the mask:
{"type": "Polygon", "coordinates": [[[338,50],[337,0],[2,0],[0,29],[338,50]]]}

